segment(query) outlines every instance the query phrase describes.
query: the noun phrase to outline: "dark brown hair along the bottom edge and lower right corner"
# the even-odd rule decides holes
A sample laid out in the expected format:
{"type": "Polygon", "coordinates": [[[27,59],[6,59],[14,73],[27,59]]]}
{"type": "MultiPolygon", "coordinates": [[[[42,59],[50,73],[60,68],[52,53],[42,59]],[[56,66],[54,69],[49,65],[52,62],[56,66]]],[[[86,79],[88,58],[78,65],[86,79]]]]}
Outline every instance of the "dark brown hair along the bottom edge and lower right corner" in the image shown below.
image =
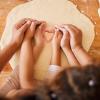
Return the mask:
{"type": "Polygon", "coordinates": [[[18,100],[100,100],[100,65],[64,69],[51,85],[41,85],[18,100]]]}

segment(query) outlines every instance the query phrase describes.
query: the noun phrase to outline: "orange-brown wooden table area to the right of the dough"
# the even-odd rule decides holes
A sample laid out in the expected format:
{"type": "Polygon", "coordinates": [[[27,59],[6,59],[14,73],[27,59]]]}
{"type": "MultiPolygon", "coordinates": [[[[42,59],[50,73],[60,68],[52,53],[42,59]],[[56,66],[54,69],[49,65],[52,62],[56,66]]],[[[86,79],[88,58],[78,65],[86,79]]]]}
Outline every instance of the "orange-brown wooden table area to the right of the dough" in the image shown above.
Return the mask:
{"type": "Polygon", "coordinates": [[[77,5],[78,9],[88,16],[95,26],[95,39],[90,48],[90,55],[92,55],[98,62],[100,62],[100,17],[98,15],[99,0],[71,0],[77,5]]]}

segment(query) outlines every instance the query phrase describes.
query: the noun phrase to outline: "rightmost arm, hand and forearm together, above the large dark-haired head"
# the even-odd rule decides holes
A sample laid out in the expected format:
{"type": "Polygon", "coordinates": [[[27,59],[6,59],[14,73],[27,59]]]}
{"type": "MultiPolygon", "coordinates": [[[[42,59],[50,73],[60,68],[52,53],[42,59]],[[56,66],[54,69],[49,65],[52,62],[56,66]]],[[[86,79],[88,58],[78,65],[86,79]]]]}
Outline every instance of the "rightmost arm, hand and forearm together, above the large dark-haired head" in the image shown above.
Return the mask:
{"type": "MultiPolygon", "coordinates": [[[[81,30],[73,25],[62,25],[62,27],[66,28],[66,30],[70,34],[71,49],[73,51],[75,58],[78,61],[78,62],[75,61],[73,64],[75,65],[81,64],[82,66],[93,64],[95,62],[94,59],[82,47],[81,30]]],[[[71,59],[71,62],[72,62],[72,59],[71,59]]]]}

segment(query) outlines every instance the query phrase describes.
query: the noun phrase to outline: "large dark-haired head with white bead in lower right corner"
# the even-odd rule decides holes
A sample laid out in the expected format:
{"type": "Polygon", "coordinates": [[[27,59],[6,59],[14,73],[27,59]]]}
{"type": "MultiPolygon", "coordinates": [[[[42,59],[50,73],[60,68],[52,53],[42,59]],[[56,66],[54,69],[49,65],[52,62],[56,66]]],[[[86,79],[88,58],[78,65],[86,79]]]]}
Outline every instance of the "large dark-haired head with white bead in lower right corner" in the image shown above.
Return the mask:
{"type": "Polygon", "coordinates": [[[61,71],[51,85],[58,100],[100,100],[100,66],[61,71]]]}

